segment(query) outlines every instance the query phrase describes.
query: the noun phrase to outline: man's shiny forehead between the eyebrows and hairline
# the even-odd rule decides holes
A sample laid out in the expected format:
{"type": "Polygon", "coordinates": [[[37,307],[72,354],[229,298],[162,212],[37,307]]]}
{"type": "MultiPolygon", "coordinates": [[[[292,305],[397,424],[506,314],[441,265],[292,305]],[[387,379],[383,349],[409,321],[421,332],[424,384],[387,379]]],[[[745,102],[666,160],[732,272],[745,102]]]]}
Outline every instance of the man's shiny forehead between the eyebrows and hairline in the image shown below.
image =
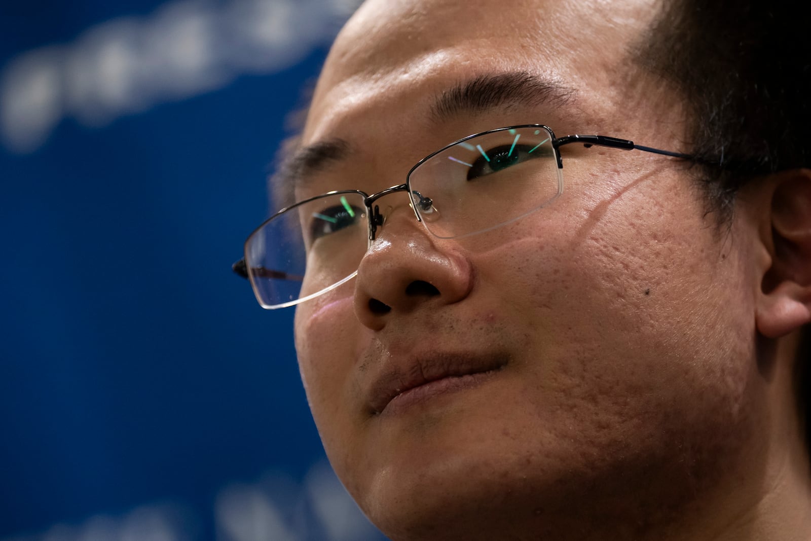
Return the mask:
{"type": "Polygon", "coordinates": [[[653,16],[647,0],[368,0],[341,31],[315,90],[303,141],[363,114],[419,114],[477,75],[524,71],[616,94],[629,48],[653,16]]]}

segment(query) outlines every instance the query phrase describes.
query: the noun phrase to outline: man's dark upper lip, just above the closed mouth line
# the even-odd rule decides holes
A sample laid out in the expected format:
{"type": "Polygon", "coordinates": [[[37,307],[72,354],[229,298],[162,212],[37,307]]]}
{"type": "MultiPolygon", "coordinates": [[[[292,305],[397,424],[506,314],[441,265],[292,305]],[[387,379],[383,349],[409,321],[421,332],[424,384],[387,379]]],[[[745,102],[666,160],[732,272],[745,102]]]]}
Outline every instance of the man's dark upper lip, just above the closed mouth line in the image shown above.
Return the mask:
{"type": "Polygon", "coordinates": [[[382,413],[388,403],[401,393],[431,381],[451,376],[467,376],[498,370],[507,363],[503,354],[431,353],[411,357],[405,362],[386,363],[373,380],[369,393],[372,411],[382,413]]]}

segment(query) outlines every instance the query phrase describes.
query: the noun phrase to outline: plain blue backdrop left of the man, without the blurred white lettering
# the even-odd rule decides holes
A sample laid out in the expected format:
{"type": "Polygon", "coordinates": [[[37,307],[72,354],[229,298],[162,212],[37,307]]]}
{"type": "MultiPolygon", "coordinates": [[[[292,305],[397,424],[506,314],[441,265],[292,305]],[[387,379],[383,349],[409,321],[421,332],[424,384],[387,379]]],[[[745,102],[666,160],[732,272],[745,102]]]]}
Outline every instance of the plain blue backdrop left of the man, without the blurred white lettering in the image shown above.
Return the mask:
{"type": "MultiPolygon", "coordinates": [[[[6,1],[0,72],[161,3],[6,1]]],[[[230,264],[327,46],[103,127],[67,118],[33,152],[0,146],[0,539],[82,539],[150,502],[182,508],[189,539],[231,539],[224,487],[300,491],[324,461],[292,311],[260,309],[230,264]]]]}

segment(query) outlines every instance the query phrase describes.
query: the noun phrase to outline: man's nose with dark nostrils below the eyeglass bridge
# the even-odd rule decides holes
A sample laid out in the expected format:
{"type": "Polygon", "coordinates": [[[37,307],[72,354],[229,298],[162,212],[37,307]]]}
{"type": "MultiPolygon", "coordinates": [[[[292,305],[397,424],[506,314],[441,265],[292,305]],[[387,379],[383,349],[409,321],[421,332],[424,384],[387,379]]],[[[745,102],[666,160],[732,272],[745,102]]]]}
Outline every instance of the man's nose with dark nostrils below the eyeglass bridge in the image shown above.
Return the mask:
{"type": "Polygon", "coordinates": [[[355,278],[354,311],[367,328],[470,293],[473,267],[455,242],[432,237],[407,213],[392,213],[378,233],[355,278]]]}

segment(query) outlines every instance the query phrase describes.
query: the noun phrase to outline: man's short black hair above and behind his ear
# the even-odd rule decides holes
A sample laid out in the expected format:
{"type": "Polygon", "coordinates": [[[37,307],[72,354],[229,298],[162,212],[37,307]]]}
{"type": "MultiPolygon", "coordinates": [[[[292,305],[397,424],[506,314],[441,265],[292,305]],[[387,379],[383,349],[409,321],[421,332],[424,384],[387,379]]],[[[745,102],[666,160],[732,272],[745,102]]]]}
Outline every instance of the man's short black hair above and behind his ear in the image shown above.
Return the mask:
{"type": "MultiPolygon", "coordinates": [[[[732,217],[754,179],[809,167],[809,19],[784,0],[666,0],[637,59],[689,110],[689,151],[710,210],[732,217]]],[[[811,327],[802,331],[796,385],[811,449],[811,327]]]]}

